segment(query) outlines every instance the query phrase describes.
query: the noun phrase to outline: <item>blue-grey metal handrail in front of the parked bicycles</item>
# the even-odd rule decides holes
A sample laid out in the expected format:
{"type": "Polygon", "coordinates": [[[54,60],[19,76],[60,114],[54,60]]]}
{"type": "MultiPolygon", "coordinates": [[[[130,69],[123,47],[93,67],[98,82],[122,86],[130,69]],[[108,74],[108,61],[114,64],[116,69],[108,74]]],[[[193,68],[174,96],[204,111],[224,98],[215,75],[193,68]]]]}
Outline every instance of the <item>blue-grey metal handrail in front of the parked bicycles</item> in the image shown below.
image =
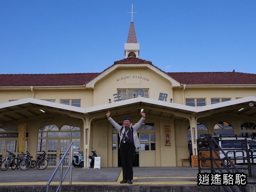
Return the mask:
{"type": "Polygon", "coordinates": [[[61,192],[62,182],[64,181],[64,179],[65,179],[65,177],[66,177],[66,175],[67,175],[67,173],[68,173],[69,168],[70,168],[69,185],[71,186],[71,184],[72,184],[72,161],[70,161],[70,164],[69,164],[69,166],[68,166],[68,169],[67,169],[67,171],[65,172],[63,178],[62,178],[62,172],[63,172],[63,161],[64,161],[65,156],[67,155],[67,153],[68,153],[68,151],[69,151],[69,149],[70,149],[71,147],[72,147],[72,148],[71,148],[71,157],[72,157],[72,154],[73,154],[73,144],[74,144],[74,142],[72,141],[72,142],[70,143],[70,145],[68,146],[68,148],[67,148],[65,154],[62,156],[62,158],[61,158],[59,164],[57,165],[56,169],[55,169],[54,172],[52,173],[52,176],[51,176],[50,179],[48,180],[47,186],[46,186],[46,192],[49,192],[50,183],[52,182],[52,179],[53,179],[53,177],[55,176],[55,174],[56,174],[56,172],[58,171],[59,168],[60,168],[60,185],[59,185],[59,187],[57,188],[56,192],[58,192],[58,191],[61,192]]]}

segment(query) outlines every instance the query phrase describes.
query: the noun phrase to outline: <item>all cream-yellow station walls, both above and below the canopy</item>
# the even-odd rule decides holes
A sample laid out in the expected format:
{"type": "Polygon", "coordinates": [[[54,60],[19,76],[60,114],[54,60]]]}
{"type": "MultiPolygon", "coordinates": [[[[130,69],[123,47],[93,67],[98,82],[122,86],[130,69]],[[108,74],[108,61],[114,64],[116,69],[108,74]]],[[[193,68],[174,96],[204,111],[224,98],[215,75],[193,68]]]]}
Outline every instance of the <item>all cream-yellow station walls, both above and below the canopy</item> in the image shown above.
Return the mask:
{"type": "MultiPolygon", "coordinates": [[[[117,89],[149,89],[149,98],[158,100],[159,93],[167,93],[167,101],[170,102],[170,98],[174,103],[183,104],[186,98],[206,98],[206,105],[211,104],[211,98],[242,98],[247,96],[255,96],[256,89],[234,87],[220,87],[219,88],[191,88],[189,86],[184,90],[183,87],[172,89],[172,84],[162,76],[158,75],[154,71],[148,68],[118,68],[112,71],[107,76],[100,79],[93,89],[86,87],[76,88],[70,86],[69,88],[34,88],[35,99],[55,99],[56,103],[60,103],[61,99],[81,99],[81,107],[87,108],[92,106],[98,106],[101,104],[107,104],[108,99],[114,102],[113,94],[117,93],[117,89]],[[133,76],[141,76],[142,79],[135,79],[133,76]],[[129,78],[124,79],[124,77],[129,78]],[[122,79],[123,78],[123,79],[122,79]],[[145,79],[144,79],[145,78],[145,79]],[[183,100],[184,99],[184,100],[183,100]]],[[[19,100],[25,98],[32,98],[32,92],[30,87],[20,88],[19,90],[13,90],[12,88],[0,89],[0,103],[8,102],[9,100],[19,100]]],[[[140,114],[129,114],[133,123],[136,123],[140,119],[140,114]]],[[[117,123],[122,122],[122,117],[113,117],[117,123]]],[[[220,121],[227,121],[234,127],[234,133],[239,134],[239,126],[244,122],[254,122],[256,120],[247,116],[229,116],[223,114],[215,114],[214,116],[204,117],[198,119],[198,122],[205,124],[209,133],[214,134],[213,127],[220,121]]],[[[75,118],[37,118],[34,120],[23,120],[22,122],[15,123],[27,123],[28,136],[28,151],[32,156],[36,156],[37,147],[37,131],[46,123],[56,124],[61,127],[67,123],[75,123],[81,128],[81,141],[80,150],[84,150],[83,141],[83,122],[80,119],[75,118]]],[[[181,166],[182,158],[187,158],[188,144],[187,144],[187,128],[189,126],[188,120],[180,122],[177,119],[163,119],[158,116],[150,116],[146,114],[145,123],[155,124],[155,139],[156,139],[156,151],[140,151],[140,166],[181,166]],[[171,127],[171,146],[165,146],[165,132],[164,126],[171,127]]],[[[139,133],[148,131],[138,131],[139,133]]],[[[151,132],[151,131],[149,131],[151,132]]],[[[101,167],[116,167],[117,151],[112,151],[112,125],[106,118],[92,121],[90,142],[89,142],[89,155],[91,156],[92,147],[97,151],[97,155],[101,157],[101,167]]],[[[119,145],[119,143],[117,144],[119,145]]],[[[188,162],[184,163],[188,165],[188,162]]]]}

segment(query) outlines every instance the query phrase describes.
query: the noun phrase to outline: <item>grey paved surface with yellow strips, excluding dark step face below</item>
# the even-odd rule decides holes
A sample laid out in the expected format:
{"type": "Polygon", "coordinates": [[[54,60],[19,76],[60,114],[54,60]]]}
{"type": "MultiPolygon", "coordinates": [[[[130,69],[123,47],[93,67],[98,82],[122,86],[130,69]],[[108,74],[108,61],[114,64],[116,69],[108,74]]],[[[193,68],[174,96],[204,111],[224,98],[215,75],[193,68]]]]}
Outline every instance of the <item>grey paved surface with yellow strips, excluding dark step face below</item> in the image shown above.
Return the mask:
{"type": "MultiPolygon", "coordinates": [[[[63,169],[63,175],[66,172],[63,169]]],[[[36,168],[23,170],[0,171],[0,186],[4,185],[46,185],[50,179],[54,168],[38,170],[36,168]]],[[[197,168],[192,167],[134,167],[133,184],[189,184],[197,183],[197,168]]],[[[64,183],[69,183],[70,173],[68,172],[64,183]]],[[[101,185],[120,185],[122,180],[122,168],[100,168],[100,169],[82,169],[72,168],[72,184],[101,184],[101,185]]],[[[57,184],[60,181],[60,170],[56,173],[51,184],[57,184]]]]}

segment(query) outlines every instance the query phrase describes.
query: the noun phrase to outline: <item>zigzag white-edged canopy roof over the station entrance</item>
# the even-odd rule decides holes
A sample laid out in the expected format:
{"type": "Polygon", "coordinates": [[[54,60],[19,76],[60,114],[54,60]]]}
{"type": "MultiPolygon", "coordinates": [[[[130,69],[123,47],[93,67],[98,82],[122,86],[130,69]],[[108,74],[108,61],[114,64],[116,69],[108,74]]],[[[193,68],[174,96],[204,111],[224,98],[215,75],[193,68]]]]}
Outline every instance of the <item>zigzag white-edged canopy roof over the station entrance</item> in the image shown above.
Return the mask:
{"type": "Polygon", "coordinates": [[[108,103],[104,105],[80,108],[53,103],[32,98],[11,101],[0,104],[0,125],[9,123],[24,123],[40,117],[79,117],[79,118],[106,118],[107,111],[111,116],[120,117],[127,114],[139,114],[143,108],[147,115],[152,117],[180,121],[188,121],[189,117],[205,117],[214,114],[228,114],[237,117],[256,117],[256,97],[246,97],[202,107],[190,107],[176,103],[137,97],[129,100],[108,103]],[[253,106],[250,106],[252,104],[253,106]],[[249,105],[250,104],[250,105],[249,105]],[[239,109],[243,110],[238,111],[239,109]],[[44,110],[44,112],[40,111],[44,110]]]}

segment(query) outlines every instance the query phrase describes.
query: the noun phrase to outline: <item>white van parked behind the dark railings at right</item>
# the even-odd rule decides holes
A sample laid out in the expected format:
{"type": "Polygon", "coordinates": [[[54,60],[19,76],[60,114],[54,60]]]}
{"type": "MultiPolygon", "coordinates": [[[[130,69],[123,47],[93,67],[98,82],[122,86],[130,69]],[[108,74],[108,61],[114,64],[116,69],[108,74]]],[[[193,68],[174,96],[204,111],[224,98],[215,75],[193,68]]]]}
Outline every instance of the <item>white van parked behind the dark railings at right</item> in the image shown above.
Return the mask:
{"type": "MultiPolygon", "coordinates": [[[[214,137],[215,140],[219,142],[220,147],[223,149],[223,151],[227,154],[228,157],[231,157],[231,159],[236,157],[235,164],[243,164],[247,163],[247,160],[243,160],[243,157],[246,157],[246,147],[245,147],[245,139],[247,139],[247,147],[253,154],[253,162],[256,163],[256,140],[253,140],[251,138],[243,138],[243,137],[230,137],[230,136],[220,136],[220,137],[214,137]]],[[[220,150],[220,158],[224,160],[225,164],[227,165],[227,161],[225,160],[225,156],[220,150]]],[[[251,159],[252,163],[252,159],[251,159]]],[[[228,162],[228,164],[230,164],[228,162]]]]}

